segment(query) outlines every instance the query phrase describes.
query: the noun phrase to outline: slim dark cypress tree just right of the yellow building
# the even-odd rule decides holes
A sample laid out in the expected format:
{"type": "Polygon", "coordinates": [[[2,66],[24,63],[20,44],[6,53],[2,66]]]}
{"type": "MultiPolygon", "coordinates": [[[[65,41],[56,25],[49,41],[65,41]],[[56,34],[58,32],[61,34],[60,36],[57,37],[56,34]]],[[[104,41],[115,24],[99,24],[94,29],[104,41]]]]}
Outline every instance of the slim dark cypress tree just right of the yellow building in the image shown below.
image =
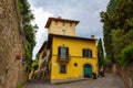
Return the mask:
{"type": "Polygon", "coordinates": [[[103,66],[104,64],[104,54],[103,54],[103,44],[102,44],[102,40],[99,40],[98,43],[98,58],[99,58],[99,66],[103,66]]]}

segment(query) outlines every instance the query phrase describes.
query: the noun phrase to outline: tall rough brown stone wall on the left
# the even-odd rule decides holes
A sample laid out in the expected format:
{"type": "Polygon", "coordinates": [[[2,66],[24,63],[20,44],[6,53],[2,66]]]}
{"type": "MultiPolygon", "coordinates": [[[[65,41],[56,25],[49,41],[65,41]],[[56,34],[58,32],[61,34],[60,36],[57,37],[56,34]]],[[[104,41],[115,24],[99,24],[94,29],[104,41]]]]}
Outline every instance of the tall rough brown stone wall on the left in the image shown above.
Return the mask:
{"type": "Polygon", "coordinates": [[[17,88],[25,81],[23,36],[18,0],[0,0],[0,88],[17,88]]]}

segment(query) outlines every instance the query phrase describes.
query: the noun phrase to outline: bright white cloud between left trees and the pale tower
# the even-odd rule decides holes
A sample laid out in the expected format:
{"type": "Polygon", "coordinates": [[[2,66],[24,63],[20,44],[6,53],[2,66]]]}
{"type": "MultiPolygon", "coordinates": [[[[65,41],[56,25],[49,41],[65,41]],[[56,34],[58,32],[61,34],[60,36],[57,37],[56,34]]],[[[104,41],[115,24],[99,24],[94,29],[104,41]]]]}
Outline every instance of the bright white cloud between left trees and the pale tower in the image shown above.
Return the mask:
{"type": "Polygon", "coordinates": [[[37,45],[33,50],[33,59],[35,58],[35,54],[38,53],[38,51],[40,50],[40,47],[42,46],[43,42],[47,41],[47,36],[48,36],[48,30],[44,29],[45,22],[48,20],[49,16],[51,16],[51,13],[44,12],[42,10],[42,8],[33,8],[31,7],[31,10],[34,14],[35,20],[32,22],[32,24],[38,24],[39,29],[38,32],[35,34],[35,42],[37,45]]]}

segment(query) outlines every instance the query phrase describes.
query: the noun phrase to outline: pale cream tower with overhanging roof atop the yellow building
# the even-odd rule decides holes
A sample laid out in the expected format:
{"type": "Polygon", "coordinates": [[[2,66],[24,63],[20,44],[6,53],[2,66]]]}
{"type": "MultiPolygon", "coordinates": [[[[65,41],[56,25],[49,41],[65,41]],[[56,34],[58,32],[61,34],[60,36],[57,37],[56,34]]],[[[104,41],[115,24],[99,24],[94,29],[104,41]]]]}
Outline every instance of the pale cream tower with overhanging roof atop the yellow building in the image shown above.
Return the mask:
{"type": "Polygon", "coordinates": [[[45,24],[49,34],[75,36],[75,25],[79,21],[59,18],[49,18],[45,24]]]}

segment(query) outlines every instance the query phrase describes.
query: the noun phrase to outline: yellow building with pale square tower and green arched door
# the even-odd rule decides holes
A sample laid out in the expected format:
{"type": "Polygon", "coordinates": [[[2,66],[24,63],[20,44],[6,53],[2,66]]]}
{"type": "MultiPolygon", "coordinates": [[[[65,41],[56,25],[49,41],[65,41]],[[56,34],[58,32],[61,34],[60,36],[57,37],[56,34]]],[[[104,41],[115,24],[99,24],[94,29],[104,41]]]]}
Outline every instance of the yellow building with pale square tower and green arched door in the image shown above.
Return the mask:
{"type": "MultiPolygon", "coordinates": [[[[75,36],[78,23],[79,21],[49,18],[45,24],[49,30],[47,51],[50,51],[45,57],[47,75],[52,84],[98,76],[96,40],[94,35],[90,38],[75,36]]],[[[40,54],[43,52],[45,51],[40,54]]]]}

